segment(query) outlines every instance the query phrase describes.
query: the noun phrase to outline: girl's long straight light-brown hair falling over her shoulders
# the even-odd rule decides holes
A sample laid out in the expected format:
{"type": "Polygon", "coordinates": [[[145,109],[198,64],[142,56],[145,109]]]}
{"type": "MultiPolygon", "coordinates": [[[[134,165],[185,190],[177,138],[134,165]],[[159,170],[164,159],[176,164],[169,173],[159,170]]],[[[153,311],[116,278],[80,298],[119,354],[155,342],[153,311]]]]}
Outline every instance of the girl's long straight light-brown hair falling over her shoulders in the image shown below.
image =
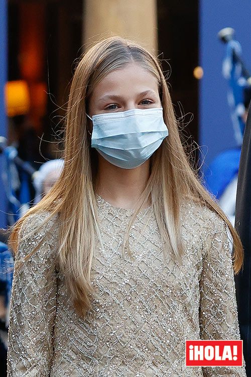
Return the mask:
{"type": "Polygon", "coordinates": [[[130,252],[130,228],[139,211],[151,198],[162,239],[180,261],[183,252],[180,207],[182,200],[187,198],[208,207],[225,221],[233,237],[235,273],[243,263],[243,250],[236,231],[189,165],[160,61],[132,40],[117,36],[105,38],[81,56],[74,72],[66,114],[63,171],[51,191],[17,221],[9,238],[9,244],[16,251],[20,227],[28,216],[41,210],[49,211],[50,216],[40,225],[43,226],[55,214],[59,214],[59,266],[65,274],[67,290],[79,315],[85,315],[91,308],[89,294],[94,292],[91,266],[97,237],[103,246],[95,199],[97,151],[90,147],[87,133],[88,100],[95,85],[105,75],[132,61],[152,72],[158,79],[169,136],[150,157],[150,177],[138,209],[129,221],[123,251],[127,247],[130,252]]]}

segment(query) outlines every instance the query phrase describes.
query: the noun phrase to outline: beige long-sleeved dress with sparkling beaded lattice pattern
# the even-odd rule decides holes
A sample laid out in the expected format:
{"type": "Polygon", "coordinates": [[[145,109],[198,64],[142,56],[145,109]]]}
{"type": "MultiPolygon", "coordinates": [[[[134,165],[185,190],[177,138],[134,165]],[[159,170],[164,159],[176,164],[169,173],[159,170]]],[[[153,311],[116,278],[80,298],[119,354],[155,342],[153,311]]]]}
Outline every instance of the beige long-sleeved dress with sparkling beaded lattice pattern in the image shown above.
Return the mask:
{"type": "MultiPolygon", "coordinates": [[[[48,237],[14,271],[8,377],[246,377],[243,366],[185,365],[186,339],[240,339],[231,249],[222,220],[188,203],[182,207],[183,266],[163,257],[152,207],[130,232],[135,256],[122,258],[123,234],[134,210],[96,195],[104,249],[97,243],[93,311],[80,319],[58,270],[57,216],[34,238],[19,243],[16,258],[48,237]]],[[[31,215],[25,234],[46,212],[31,215]]]]}

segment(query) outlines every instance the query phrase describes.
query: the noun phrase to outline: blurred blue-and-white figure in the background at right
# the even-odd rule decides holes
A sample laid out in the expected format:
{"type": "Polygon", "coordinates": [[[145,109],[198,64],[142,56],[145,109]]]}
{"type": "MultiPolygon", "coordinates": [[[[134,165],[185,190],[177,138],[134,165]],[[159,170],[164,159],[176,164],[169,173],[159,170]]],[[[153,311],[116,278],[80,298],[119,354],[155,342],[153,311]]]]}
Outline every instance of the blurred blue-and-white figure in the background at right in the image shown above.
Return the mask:
{"type": "Polygon", "coordinates": [[[204,180],[207,190],[218,200],[220,208],[234,226],[237,177],[251,97],[251,77],[243,62],[241,44],[235,38],[235,30],[223,28],[218,32],[218,38],[225,45],[222,75],[227,81],[227,102],[236,145],[213,158],[204,172],[204,180]]]}

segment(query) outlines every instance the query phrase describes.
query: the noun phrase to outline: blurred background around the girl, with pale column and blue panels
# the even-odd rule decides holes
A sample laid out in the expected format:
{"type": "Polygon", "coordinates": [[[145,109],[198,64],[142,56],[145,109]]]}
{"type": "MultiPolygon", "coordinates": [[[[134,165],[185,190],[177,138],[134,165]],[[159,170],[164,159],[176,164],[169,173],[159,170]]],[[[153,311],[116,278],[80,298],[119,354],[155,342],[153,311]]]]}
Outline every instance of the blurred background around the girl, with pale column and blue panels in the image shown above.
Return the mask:
{"type": "Polygon", "coordinates": [[[65,108],[80,54],[110,35],[133,38],[162,61],[185,138],[200,146],[193,155],[203,163],[199,174],[234,222],[250,102],[250,16],[250,0],[0,0],[2,250],[8,225],[63,166],[65,108]]]}

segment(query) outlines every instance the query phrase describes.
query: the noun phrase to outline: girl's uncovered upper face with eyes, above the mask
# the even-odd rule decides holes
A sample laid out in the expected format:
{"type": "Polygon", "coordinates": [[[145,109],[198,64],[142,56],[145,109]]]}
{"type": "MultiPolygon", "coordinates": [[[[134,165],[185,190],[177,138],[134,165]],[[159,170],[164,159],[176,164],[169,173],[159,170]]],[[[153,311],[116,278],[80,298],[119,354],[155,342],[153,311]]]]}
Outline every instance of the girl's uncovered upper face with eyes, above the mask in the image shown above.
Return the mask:
{"type": "MultiPolygon", "coordinates": [[[[108,73],[95,86],[88,115],[161,107],[157,78],[139,64],[130,63],[108,73]]],[[[92,122],[87,119],[92,131],[92,122]]]]}

